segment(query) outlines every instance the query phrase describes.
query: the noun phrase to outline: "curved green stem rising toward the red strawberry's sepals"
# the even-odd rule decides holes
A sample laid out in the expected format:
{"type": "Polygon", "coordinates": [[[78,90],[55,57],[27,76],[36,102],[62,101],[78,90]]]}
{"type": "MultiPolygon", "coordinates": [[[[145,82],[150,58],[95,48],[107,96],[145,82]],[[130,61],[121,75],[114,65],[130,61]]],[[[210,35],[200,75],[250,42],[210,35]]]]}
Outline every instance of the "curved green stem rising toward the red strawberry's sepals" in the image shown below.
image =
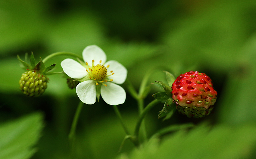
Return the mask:
{"type": "Polygon", "coordinates": [[[148,111],[153,108],[156,104],[158,104],[160,101],[158,100],[153,100],[151,101],[142,111],[142,113],[139,116],[139,119],[136,123],[136,127],[135,127],[135,131],[134,131],[134,136],[136,136],[138,138],[139,136],[139,128],[141,126],[142,120],[145,118],[145,115],[148,113],[148,111]]]}

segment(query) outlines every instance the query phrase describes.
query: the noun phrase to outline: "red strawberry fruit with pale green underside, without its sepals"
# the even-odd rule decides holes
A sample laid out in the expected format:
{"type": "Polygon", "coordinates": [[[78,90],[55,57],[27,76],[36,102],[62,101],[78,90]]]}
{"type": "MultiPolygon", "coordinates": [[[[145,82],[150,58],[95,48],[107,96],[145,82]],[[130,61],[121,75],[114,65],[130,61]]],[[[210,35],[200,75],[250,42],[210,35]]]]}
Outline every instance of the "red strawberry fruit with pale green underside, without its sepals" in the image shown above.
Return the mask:
{"type": "Polygon", "coordinates": [[[172,84],[172,89],[177,110],[187,117],[209,115],[217,99],[210,77],[198,71],[180,74],[172,84]]]}

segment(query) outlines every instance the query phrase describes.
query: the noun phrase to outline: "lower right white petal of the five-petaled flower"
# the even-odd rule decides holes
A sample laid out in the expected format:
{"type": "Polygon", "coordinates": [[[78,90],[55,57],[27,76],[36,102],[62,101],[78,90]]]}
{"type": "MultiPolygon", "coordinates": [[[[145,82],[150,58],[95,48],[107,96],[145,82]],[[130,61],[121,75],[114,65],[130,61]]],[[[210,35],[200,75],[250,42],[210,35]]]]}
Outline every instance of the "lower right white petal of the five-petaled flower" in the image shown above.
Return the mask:
{"type": "Polygon", "coordinates": [[[124,103],[126,92],[121,86],[107,82],[107,86],[101,85],[101,97],[109,105],[118,105],[124,103]]]}

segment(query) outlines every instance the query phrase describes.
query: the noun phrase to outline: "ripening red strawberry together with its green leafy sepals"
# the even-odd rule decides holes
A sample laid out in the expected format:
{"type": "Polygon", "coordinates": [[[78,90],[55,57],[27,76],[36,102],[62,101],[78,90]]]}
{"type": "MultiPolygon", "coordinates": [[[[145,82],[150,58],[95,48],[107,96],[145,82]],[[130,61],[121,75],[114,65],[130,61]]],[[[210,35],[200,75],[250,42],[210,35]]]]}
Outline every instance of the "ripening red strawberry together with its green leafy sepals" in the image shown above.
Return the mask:
{"type": "Polygon", "coordinates": [[[161,84],[165,92],[153,95],[158,100],[166,100],[159,117],[170,118],[175,111],[174,104],[179,113],[187,117],[200,118],[211,113],[217,99],[217,92],[209,76],[198,71],[180,74],[176,79],[168,72],[166,75],[169,86],[156,81],[161,84]]]}

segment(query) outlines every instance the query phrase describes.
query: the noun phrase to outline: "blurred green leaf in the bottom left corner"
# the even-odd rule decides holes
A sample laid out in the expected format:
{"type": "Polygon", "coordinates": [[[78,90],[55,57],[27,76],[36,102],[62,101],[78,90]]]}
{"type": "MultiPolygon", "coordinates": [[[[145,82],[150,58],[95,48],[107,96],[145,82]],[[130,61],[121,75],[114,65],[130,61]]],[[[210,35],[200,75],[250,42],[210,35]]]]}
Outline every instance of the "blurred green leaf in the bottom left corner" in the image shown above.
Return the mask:
{"type": "Polygon", "coordinates": [[[0,125],[0,158],[28,159],[40,137],[43,117],[34,113],[0,125]]]}

